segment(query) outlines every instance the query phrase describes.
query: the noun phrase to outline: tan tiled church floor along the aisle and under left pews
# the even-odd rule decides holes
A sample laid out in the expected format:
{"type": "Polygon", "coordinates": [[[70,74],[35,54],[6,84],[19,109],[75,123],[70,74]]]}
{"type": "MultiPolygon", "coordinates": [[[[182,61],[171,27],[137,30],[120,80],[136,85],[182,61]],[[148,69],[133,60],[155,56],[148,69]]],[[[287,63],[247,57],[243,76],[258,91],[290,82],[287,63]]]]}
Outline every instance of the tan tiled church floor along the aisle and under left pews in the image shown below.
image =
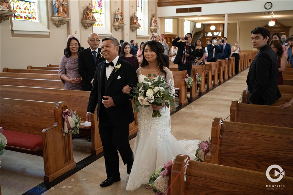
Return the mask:
{"type": "MultiPolygon", "coordinates": [[[[242,71],[172,114],[172,134],[175,138],[178,140],[207,140],[211,133],[214,117],[222,117],[223,119],[228,117],[231,101],[239,100],[240,94],[246,89],[247,73],[248,69],[242,71]]],[[[74,139],[73,145],[76,163],[91,155],[91,143],[85,138],[74,139]]],[[[130,145],[133,148],[134,139],[130,140],[130,145]]],[[[3,195],[16,195],[25,192],[27,192],[26,194],[41,194],[36,186],[45,185],[43,183],[42,157],[4,150],[1,158],[0,182],[3,195]]],[[[68,178],[63,177],[65,179],[52,186],[51,189],[51,186],[47,185],[47,191],[43,194],[154,194],[151,189],[146,189],[144,186],[133,192],[125,190],[129,176],[122,161],[120,161],[121,181],[105,188],[100,187],[100,183],[106,178],[103,157],[86,167],[82,165],[81,167],[81,170],[77,170],[68,178]]]]}

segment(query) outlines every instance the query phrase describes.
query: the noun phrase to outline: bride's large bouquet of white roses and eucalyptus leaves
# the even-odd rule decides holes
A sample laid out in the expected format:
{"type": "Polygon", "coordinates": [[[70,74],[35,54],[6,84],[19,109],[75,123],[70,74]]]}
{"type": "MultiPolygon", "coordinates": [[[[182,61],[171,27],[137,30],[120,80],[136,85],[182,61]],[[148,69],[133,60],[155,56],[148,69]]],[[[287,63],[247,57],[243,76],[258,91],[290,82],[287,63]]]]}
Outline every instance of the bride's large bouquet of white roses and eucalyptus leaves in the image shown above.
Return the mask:
{"type": "MultiPolygon", "coordinates": [[[[145,82],[137,83],[137,85],[132,88],[129,95],[134,98],[134,111],[139,112],[139,106],[147,108],[150,105],[161,106],[163,103],[165,103],[168,108],[171,106],[172,110],[175,111],[175,107],[178,105],[174,103],[172,95],[175,97],[176,94],[169,94],[169,86],[166,85],[165,80],[162,79],[161,76],[156,76],[155,74],[153,74],[153,76],[153,79],[144,78],[145,82]]],[[[148,77],[151,77],[151,74],[148,74],[148,77]]],[[[161,116],[159,110],[153,110],[153,118],[161,116]]]]}

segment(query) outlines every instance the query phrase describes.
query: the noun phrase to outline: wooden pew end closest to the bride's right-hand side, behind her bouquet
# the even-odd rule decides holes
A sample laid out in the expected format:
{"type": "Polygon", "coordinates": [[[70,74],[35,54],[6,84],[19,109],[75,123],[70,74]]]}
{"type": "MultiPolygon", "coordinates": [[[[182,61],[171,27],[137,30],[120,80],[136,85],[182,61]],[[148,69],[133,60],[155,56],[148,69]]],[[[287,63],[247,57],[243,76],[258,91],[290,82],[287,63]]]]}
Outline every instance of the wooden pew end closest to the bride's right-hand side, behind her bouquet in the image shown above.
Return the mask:
{"type": "Polygon", "coordinates": [[[187,71],[172,71],[174,76],[174,85],[175,85],[175,91],[178,91],[179,93],[179,106],[183,106],[188,103],[187,100],[187,87],[185,83],[185,75],[187,74],[187,71]]]}

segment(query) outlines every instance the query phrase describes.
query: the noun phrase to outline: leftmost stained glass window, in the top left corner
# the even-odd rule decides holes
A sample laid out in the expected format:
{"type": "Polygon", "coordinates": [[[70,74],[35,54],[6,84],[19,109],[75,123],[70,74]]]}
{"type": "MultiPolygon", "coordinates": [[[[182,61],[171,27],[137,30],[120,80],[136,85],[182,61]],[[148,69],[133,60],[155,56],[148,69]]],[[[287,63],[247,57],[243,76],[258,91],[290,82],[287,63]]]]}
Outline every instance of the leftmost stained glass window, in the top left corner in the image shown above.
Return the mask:
{"type": "Polygon", "coordinates": [[[15,15],[12,15],[13,20],[38,22],[37,0],[10,0],[10,5],[16,12],[15,15]]]}

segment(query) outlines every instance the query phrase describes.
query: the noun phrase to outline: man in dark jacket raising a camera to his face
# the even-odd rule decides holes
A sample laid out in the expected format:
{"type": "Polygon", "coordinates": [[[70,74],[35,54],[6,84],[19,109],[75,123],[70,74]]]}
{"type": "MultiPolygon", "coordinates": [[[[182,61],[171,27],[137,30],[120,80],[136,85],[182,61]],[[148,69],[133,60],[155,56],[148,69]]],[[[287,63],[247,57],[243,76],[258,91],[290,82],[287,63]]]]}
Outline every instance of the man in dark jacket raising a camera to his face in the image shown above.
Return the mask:
{"type": "Polygon", "coordinates": [[[187,33],[185,37],[180,36],[172,41],[172,45],[178,47],[178,52],[174,59],[174,64],[178,64],[179,71],[187,70],[187,73],[190,76],[192,61],[195,59],[195,47],[190,44],[192,40],[192,34],[187,33]],[[186,40],[185,37],[187,37],[186,40]],[[185,42],[178,42],[180,39],[185,42]]]}

